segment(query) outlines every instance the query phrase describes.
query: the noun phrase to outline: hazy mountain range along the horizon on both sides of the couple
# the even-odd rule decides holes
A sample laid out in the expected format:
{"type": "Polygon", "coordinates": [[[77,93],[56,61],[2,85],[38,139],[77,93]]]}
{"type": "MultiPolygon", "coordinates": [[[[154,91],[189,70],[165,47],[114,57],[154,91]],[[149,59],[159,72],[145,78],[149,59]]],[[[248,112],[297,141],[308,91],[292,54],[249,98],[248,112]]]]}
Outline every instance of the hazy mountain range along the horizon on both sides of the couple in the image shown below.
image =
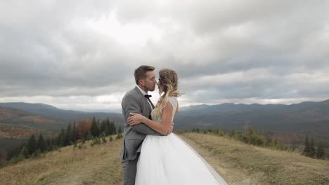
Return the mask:
{"type": "MultiPolygon", "coordinates": [[[[0,103],[0,139],[1,134],[4,137],[4,129],[1,131],[1,128],[56,132],[67,123],[93,116],[100,120],[110,118],[117,126],[122,126],[122,114],[117,113],[63,110],[48,104],[0,103]]],[[[329,100],[290,105],[202,104],[181,107],[174,124],[175,130],[215,128],[243,131],[251,126],[273,135],[311,135],[329,141],[329,100]]]]}

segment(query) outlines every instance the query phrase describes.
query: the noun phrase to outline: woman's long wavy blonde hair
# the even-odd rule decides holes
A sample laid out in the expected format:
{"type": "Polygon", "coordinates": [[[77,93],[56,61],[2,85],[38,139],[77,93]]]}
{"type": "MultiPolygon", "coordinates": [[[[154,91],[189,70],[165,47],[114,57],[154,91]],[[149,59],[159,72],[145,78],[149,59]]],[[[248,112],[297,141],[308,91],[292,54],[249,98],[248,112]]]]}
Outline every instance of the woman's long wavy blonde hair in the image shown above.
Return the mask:
{"type": "Polygon", "coordinates": [[[178,88],[178,76],[172,69],[161,69],[159,71],[159,94],[160,98],[157,101],[154,111],[152,112],[152,118],[160,118],[163,108],[167,104],[168,97],[177,97],[180,95],[178,88]]]}

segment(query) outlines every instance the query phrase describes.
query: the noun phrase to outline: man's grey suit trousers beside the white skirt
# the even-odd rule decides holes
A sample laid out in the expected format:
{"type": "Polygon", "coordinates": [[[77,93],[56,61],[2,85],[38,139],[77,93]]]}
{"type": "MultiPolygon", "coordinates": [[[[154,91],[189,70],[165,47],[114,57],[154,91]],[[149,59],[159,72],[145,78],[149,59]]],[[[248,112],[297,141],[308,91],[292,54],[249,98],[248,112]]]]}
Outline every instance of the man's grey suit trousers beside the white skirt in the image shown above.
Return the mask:
{"type": "Polygon", "coordinates": [[[124,185],[135,185],[139,154],[134,160],[122,160],[124,185]]]}

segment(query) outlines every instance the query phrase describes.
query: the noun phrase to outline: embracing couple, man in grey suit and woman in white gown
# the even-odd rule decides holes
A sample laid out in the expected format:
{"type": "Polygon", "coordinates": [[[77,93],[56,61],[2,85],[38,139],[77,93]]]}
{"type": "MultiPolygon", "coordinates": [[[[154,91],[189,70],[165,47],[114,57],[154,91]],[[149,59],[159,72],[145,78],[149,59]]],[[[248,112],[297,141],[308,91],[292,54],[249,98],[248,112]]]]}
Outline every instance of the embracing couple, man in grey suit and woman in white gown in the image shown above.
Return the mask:
{"type": "Polygon", "coordinates": [[[138,67],[136,87],[122,99],[124,185],[226,184],[191,146],[172,133],[179,110],[178,76],[171,69],[161,69],[157,82],[154,69],[138,67]],[[155,90],[155,85],[160,99],[154,106],[148,91],[155,90]]]}

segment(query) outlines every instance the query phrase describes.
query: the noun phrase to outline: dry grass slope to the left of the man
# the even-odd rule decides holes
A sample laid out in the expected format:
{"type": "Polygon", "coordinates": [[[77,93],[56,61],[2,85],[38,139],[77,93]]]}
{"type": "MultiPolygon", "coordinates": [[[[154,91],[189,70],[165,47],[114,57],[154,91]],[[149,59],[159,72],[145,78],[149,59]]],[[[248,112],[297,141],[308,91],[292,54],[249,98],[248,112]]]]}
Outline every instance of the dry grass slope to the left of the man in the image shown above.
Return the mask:
{"type": "MultiPolygon", "coordinates": [[[[109,141],[109,139],[107,138],[109,141]]],[[[120,184],[122,139],[78,149],[66,146],[0,169],[0,184],[120,184]]]]}

